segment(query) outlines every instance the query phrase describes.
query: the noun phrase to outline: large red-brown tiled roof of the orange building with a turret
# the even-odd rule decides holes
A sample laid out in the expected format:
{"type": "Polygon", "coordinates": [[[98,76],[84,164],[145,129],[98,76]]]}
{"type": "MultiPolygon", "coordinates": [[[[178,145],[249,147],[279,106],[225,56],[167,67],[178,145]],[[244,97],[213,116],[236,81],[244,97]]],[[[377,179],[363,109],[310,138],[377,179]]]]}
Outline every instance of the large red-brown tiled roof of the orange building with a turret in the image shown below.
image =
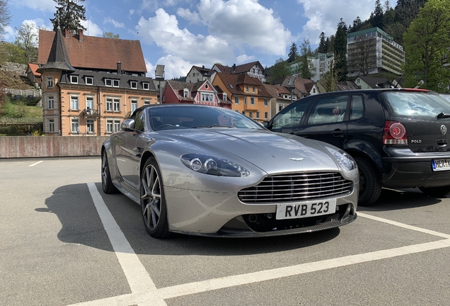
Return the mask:
{"type": "MultiPolygon", "coordinates": [[[[53,31],[39,30],[38,64],[47,64],[54,34],[53,31]]],[[[69,34],[63,41],[71,66],[75,68],[117,70],[120,61],[127,72],[147,72],[139,40],[83,35],[83,42],[80,42],[78,34],[69,34]]]]}

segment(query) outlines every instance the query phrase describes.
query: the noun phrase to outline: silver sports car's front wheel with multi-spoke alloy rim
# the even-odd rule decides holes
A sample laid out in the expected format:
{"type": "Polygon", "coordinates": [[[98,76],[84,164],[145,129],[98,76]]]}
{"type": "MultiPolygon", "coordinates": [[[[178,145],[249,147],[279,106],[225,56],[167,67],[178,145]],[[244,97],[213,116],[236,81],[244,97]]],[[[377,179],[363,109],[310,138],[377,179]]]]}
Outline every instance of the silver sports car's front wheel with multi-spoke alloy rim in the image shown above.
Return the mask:
{"type": "Polygon", "coordinates": [[[141,174],[141,206],[146,231],[154,238],[167,238],[168,231],[166,200],[161,171],[151,157],[144,164],[141,174]]]}

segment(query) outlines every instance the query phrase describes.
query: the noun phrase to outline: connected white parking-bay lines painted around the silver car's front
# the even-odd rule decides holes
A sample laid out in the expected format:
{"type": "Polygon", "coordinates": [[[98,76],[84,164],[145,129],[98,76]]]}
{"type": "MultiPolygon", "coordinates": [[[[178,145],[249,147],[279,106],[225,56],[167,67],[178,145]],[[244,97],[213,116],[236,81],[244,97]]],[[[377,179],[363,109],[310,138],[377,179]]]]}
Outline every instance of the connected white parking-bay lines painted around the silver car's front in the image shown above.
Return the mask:
{"type": "Polygon", "coordinates": [[[96,185],[94,183],[88,183],[88,188],[89,191],[91,191],[91,196],[98,210],[98,215],[100,215],[100,219],[102,220],[103,226],[108,233],[111,244],[113,244],[113,249],[115,250],[117,259],[120,262],[120,266],[122,266],[122,270],[125,273],[125,277],[128,280],[129,288],[131,289],[132,293],[126,295],[118,295],[115,297],[107,297],[104,299],[93,300],[89,302],[81,302],[75,304],[76,306],[128,306],[133,304],[139,306],[166,305],[164,299],[173,297],[202,293],[222,288],[230,288],[250,283],[259,283],[265,280],[274,280],[277,278],[285,278],[288,276],[299,276],[304,273],[323,271],[330,268],[338,268],[342,266],[350,266],[356,263],[366,263],[369,261],[390,259],[397,256],[416,254],[424,251],[450,247],[449,234],[443,234],[428,229],[422,229],[420,227],[405,225],[400,222],[386,220],[381,217],[374,217],[372,215],[358,212],[359,217],[365,217],[371,220],[384,222],[389,225],[403,227],[405,229],[415,230],[417,232],[423,232],[426,234],[432,234],[434,236],[446,239],[438,240],[436,242],[402,246],[396,249],[373,251],[365,254],[350,255],[336,259],[328,259],[311,263],[302,263],[299,265],[287,266],[284,268],[275,268],[271,270],[257,271],[236,276],[226,276],[224,278],[213,278],[209,280],[198,281],[195,283],[186,283],[183,285],[175,285],[172,287],[157,289],[153,283],[153,280],[151,280],[149,273],[147,273],[146,269],[139,261],[139,258],[134,253],[122,230],[115,222],[113,215],[111,215],[110,211],[103,202],[103,198],[100,196],[100,193],[98,193],[96,185]]]}

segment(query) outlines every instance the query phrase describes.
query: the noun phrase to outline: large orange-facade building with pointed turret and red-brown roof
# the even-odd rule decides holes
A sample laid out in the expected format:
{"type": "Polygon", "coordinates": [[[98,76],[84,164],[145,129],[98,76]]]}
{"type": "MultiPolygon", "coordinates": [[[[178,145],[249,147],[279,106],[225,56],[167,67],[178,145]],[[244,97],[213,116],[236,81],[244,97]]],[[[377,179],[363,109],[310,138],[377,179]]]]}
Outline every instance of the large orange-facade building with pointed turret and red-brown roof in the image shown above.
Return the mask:
{"type": "Polygon", "coordinates": [[[45,135],[109,135],[139,106],[158,103],[139,40],[39,32],[45,135]]]}

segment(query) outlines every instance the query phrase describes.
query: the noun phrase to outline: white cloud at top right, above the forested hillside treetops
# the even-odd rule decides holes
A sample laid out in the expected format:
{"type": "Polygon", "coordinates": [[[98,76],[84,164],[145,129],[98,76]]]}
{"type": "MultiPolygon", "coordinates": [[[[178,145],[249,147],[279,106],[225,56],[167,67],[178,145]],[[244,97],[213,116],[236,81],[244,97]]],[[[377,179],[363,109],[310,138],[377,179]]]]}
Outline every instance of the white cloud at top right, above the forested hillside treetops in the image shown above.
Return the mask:
{"type": "MultiPolygon", "coordinates": [[[[340,18],[347,23],[347,26],[350,26],[357,16],[362,21],[369,18],[370,13],[375,8],[374,0],[297,1],[304,6],[304,16],[308,18],[303,26],[302,35],[308,37],[311,44],[318,43],[321,32],[325,33],[325,36],[335,35],[340,18]],[[357,12],[357,15],[355,15],[355,12],[357,12]]],[[[391,4],[391,6],[393,5],[395,4],[391,4]]]]}

